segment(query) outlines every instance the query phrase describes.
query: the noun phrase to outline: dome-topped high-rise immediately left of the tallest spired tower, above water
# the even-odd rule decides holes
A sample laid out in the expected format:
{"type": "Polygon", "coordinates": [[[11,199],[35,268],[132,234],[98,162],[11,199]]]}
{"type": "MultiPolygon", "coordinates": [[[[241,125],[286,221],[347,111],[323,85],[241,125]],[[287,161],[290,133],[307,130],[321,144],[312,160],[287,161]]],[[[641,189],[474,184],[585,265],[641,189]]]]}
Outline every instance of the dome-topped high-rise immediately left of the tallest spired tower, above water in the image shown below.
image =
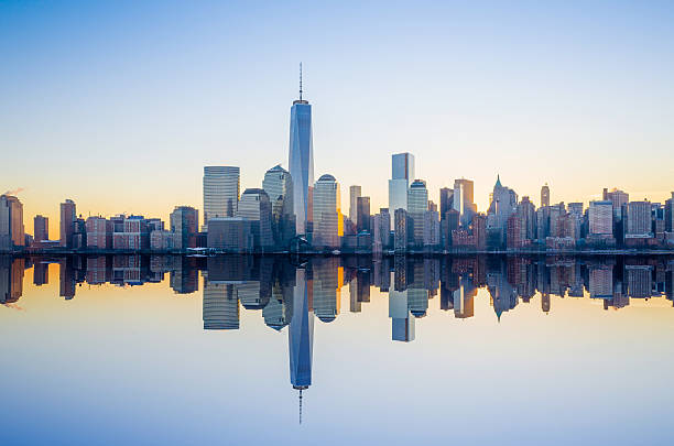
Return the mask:
{"type": "Polygon", "coordinates": [[[264,174],[262,188],[269,195],[272,205],[272,232],[274,243],[287,248],[295,237],[295,218],[293,215],[293,180],[291,174],[276,165],[264,174]]]}

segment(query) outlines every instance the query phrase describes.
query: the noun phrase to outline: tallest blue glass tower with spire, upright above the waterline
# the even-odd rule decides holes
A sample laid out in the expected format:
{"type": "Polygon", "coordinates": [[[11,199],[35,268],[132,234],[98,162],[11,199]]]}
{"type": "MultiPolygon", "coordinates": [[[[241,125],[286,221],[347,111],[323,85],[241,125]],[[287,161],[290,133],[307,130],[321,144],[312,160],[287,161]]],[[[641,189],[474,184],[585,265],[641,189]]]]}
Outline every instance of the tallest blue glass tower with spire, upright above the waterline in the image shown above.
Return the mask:
{"type": "Polygon", "coordinates": [[[314,143],[312,140],[312,106],[302,99],[302,65],[300,65],[300,99],[291,107],[290,174],[293,178],[293,209],[298,235],[313,229],[312,198],[314,189],[314,143]]]}

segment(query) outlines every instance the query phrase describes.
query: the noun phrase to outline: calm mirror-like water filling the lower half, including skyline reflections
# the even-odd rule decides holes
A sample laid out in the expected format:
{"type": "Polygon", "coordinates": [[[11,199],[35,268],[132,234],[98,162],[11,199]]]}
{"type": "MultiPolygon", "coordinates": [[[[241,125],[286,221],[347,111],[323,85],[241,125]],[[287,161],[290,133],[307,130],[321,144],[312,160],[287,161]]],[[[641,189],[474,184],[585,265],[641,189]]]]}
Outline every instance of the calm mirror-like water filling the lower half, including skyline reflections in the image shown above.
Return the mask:
{"type": "Polygon", "coordinates": [[[671,444],[673,284],[665,257],[0,258],[1,443],[671,444]]]}

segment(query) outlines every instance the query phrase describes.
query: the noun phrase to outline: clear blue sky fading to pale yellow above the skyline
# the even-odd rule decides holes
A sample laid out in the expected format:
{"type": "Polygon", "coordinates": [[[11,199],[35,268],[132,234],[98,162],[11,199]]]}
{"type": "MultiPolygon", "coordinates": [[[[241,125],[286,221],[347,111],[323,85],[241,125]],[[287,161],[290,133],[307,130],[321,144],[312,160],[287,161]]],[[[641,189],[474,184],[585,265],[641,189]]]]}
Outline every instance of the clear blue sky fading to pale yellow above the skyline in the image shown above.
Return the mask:
{"type": "Polygon", "coordinates": [[[672,2],[0,2],[0,193],[57,237],[58,203],[167,219],[204,165],[241,192],[287,167],[313,105],[315,176],[388,206],[392,153],[431,198],[475,181],[540,204],[674,191],[672,2]]]}

